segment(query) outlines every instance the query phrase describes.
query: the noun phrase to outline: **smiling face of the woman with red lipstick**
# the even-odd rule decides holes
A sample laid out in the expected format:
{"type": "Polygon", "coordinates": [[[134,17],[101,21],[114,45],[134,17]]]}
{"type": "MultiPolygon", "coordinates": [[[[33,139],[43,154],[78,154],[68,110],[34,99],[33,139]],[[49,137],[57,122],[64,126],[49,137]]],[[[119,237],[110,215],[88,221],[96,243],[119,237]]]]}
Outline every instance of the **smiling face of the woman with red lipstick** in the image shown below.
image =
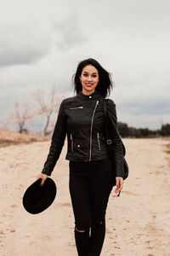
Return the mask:
{"type": "Polygon", "coordinates": [[[82,68],[80,80],[82,82],[82,94],[90,95],[94,92],[99,82],[98,70],[92,65],[87,65],[82,68]]]}

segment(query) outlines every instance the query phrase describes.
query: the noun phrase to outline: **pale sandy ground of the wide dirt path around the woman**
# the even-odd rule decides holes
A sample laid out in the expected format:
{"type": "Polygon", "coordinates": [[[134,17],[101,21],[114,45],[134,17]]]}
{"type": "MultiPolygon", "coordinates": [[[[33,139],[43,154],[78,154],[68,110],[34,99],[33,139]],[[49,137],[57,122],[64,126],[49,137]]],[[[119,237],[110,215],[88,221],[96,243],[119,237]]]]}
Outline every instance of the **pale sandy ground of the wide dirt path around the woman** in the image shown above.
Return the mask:
{"type": "MultiPolygon", "coordinates": [[[[163,139],[124,139],[130,175],[122,194],[112,190],[101,256],[170,255],[170,168],[163,139]]],[[[22,206],[50,142],[0,148],[0,255],[76,256],[74,219],[68,189],[66,143],[54,168],[54,203],[31,215],[22,206]]]]}

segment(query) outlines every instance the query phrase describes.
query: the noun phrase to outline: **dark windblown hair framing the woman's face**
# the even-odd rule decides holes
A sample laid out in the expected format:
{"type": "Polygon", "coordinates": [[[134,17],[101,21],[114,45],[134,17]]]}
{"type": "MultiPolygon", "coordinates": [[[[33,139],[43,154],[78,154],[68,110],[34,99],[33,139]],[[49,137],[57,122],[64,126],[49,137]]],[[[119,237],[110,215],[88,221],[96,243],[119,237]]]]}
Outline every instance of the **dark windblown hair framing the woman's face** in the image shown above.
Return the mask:
{"type": "Polygon", "coordinates": [[[80,76],[82,74],[82,69],[88,65],[94,66],[99,73],[99,84],[96,86],[95,90],[104,98],[106,96],[110,96],[111,89],[113,88],[111,73],[107,72],[105,68],[101,67],[98,61],[95,61],[92,58],[79,62],[77,66],[77,72],[72,76],[74,92],[76,91],[78,94],[82,90],[82,83],[80,81],[80,76]]]}

